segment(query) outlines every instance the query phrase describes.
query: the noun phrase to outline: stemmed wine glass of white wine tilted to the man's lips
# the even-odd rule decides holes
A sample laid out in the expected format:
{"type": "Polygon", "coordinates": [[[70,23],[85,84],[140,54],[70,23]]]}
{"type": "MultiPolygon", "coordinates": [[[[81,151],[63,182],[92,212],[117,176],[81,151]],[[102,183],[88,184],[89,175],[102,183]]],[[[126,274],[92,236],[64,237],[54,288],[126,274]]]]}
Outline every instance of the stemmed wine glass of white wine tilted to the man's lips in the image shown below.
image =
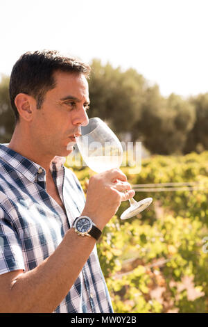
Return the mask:
{"type": "MultiPolygon", "coordinates": [[[[119,168],[123,160],[123,148],[119,138],[100,118],[90,118],[89,124],[81,127],[82,136],[76,137],[76,143],[83,160],[96,173],[111,168],[119,168]]],[[[145,198],[139,202],[129,199],[130,207],[121,214],[121,219],[136,216],[153,201],[145,198]]]]}

